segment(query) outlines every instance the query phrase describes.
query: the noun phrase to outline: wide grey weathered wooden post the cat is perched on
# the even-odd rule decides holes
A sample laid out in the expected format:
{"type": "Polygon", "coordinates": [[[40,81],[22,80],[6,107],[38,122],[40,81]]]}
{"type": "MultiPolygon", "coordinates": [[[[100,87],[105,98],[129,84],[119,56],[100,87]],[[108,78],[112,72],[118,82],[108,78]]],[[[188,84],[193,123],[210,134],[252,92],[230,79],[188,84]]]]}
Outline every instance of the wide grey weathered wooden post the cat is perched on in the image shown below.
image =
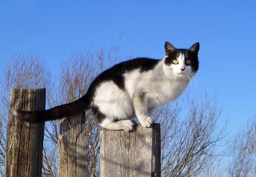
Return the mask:
{"type": "Polygon", "coordinates": [[[100,130],[100,176],[160,176],[160,124],[100,130]]]}

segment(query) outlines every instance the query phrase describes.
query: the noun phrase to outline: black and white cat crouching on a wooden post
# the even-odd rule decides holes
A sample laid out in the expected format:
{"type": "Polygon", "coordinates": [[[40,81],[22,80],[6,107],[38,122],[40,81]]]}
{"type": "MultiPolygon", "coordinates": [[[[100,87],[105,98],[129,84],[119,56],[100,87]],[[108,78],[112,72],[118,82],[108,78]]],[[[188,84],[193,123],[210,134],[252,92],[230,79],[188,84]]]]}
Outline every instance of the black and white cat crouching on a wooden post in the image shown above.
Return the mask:
{"type": "Polygon", "coordinates": [[[176,49],[165,42],[163,59],[136,58],[114,65],[90,85],[80,99],[48,110],[15,110],[19,119],[41,122],[61,119],[91,109],[103,128],[125,131],[133,129],[138,118],[150,127],[150,117],[160,105],[177,99],[198,70],[199,43],[189,49],[176,49]]]}

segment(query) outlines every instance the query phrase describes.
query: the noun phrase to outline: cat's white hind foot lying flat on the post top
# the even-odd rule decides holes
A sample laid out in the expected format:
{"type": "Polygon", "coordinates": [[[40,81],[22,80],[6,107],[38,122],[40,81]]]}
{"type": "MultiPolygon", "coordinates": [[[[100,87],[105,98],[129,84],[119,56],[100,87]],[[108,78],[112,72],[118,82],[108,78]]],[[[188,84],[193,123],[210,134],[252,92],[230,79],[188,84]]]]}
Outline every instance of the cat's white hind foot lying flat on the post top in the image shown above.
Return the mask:
{"type": "Polygon", "coordinates": [[[131,131],[133,130],[133,126],[137,124],[136,121],[131,121],[129,119],[119,120],[113,122],[110,118],[105,118],[99,125],[103,128],[112,129],[112,130],[125,130],[131,131]]]}

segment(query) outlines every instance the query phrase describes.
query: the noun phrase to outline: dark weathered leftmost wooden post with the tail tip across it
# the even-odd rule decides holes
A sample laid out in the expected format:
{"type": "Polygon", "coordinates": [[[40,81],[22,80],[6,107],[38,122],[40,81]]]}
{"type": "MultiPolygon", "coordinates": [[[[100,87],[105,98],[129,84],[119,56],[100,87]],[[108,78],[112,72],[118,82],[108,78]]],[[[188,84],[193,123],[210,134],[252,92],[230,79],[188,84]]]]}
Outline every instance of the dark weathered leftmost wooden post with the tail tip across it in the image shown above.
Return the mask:
{"type": "Polygon", "coordinates": [[[45,110],[46,89],[11,89],[5,176],[41,176],[45,123],[14,117],[13,110],[45,110]]]}

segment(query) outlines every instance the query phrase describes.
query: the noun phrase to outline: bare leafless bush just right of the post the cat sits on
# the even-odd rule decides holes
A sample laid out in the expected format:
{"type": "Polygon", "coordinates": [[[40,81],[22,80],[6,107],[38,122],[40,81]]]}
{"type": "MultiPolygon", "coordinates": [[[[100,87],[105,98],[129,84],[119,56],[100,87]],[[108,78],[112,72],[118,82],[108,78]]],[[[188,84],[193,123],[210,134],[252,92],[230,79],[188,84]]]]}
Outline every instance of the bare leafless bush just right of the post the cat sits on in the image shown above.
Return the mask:
{"type": "Polygon", "coordinates": [[[187,103],[174,102],[155,114],[161,123],[163,176],[199,175],[219,155],[216,145],[225,136],[225,126],[217,130],[222,108],[218,109],[216,97],[187,98],[187,103]]]}

